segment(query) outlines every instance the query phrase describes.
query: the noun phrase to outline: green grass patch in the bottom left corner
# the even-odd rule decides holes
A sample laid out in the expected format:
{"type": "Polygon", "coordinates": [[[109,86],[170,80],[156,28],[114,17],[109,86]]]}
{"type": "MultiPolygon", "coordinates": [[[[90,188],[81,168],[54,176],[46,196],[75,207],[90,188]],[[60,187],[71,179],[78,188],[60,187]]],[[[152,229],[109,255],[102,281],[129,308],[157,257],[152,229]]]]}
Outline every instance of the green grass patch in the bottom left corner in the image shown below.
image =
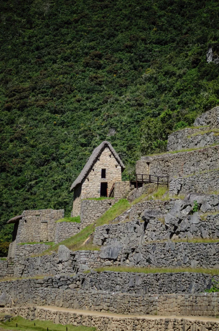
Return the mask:
{"type": "MultiPolygon", "coordinates": [[[[0,322],[0,327],[3,330],[17,330],[17,331],[46,331],[47,328],[49,331],[66,331],[66,325],[55,324],[52,321],[40,321],[39,319],[30,321],[20,316],[11,318],[10,322],[0,322]],[[16,327],[18,323],[18,327],[16,327]],[[35,323],[35,326],[34,326],[35,323]]],[[[86,327],[86,326],[73,326],[67,325],[68,331],[94,331],[95,327],[86,327]]]]}

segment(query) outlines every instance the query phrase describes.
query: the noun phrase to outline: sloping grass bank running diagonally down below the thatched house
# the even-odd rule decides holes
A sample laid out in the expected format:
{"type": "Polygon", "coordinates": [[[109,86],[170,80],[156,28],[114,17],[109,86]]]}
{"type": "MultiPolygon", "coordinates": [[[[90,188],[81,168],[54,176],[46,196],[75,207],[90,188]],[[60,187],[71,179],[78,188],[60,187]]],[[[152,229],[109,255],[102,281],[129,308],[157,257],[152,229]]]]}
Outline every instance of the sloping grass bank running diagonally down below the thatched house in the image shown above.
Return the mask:
{"type": "Polygon", "coordinates": [[[128,200],[126,199],[119,200],[111,208],[109,208],[108,211],[106,211],[101,217],[99,217],[95,221],[95,223],[86,226],[79,233],[62,241],[57,245],[50,247],[48,250],[44,251],[43,253],[37,256],[42,256],[46,254],[52,254],[52,252],[57,252],[59,245],[65,245],[72,251],[86,250],[86,247],[89,247],[87,249],[97,250],[97,246],[93,246],[93,245],[91,246],[91,244],[83,246],[82,244],[95,231],[96,226],[109,224],[110,221],[112,221],[114,218],[116,218],[118,215],[125,212],[129,208],[131,208],[131,205],[128,202],[128,200]]]}

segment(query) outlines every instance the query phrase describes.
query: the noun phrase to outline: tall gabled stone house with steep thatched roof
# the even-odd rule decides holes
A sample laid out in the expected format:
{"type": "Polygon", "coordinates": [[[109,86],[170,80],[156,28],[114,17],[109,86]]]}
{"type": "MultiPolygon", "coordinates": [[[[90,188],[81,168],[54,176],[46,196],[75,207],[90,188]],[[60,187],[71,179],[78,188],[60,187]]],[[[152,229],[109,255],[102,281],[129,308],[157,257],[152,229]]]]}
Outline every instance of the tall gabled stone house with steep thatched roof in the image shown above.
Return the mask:
{"type": "Polygon", "coordinates": [[[71,185],[74,190],[72,216],[81,211],[81,200],[108,197],[115,182],[121,182],[123,165],[108,141],[103,141],[91,154],[79,176],[71,185]]]}

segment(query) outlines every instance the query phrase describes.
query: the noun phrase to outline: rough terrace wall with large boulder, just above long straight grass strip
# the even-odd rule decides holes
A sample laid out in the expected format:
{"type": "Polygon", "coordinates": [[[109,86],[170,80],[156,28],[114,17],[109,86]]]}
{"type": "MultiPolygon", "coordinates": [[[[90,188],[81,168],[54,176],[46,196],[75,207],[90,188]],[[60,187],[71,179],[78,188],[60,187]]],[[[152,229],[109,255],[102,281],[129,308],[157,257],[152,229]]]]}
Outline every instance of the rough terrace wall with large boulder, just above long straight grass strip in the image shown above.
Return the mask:
{"type": "Polygon", "coordinates": [[[219,268],[217,243],[157,242],[137,247],[120,243],[103,246],[101,251],[71,252],[68,260],[60,261],[57,254],[26,258],[15,266],[14,276],[72,274],[110,265],[125,264],[140,267],[203,267],[219,268]]]}

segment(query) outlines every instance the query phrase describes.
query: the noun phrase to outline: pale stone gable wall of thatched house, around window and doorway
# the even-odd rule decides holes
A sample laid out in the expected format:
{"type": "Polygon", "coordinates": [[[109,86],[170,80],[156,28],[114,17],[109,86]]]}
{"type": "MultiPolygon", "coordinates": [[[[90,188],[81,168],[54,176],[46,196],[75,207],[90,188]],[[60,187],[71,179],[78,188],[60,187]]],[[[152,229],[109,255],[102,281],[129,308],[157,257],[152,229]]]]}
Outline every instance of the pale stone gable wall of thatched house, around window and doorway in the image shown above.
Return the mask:
{"type": "Polygon", "coordinates": [[[108,194],[112,184],[122,180],[121,166],[118,164],[108,147],[82,182],[81,199],[99,198],[101,182],[108,182],[108,194]],[[111,157],[110,157],[111,156],[111,157]],[[101,178],[101,169],[106,169],[106,178],[101,178]],[[94,171],[93,171],[94,169],[94,171]],[[89,179],[89,180],[88,180],[89,179]]]}

